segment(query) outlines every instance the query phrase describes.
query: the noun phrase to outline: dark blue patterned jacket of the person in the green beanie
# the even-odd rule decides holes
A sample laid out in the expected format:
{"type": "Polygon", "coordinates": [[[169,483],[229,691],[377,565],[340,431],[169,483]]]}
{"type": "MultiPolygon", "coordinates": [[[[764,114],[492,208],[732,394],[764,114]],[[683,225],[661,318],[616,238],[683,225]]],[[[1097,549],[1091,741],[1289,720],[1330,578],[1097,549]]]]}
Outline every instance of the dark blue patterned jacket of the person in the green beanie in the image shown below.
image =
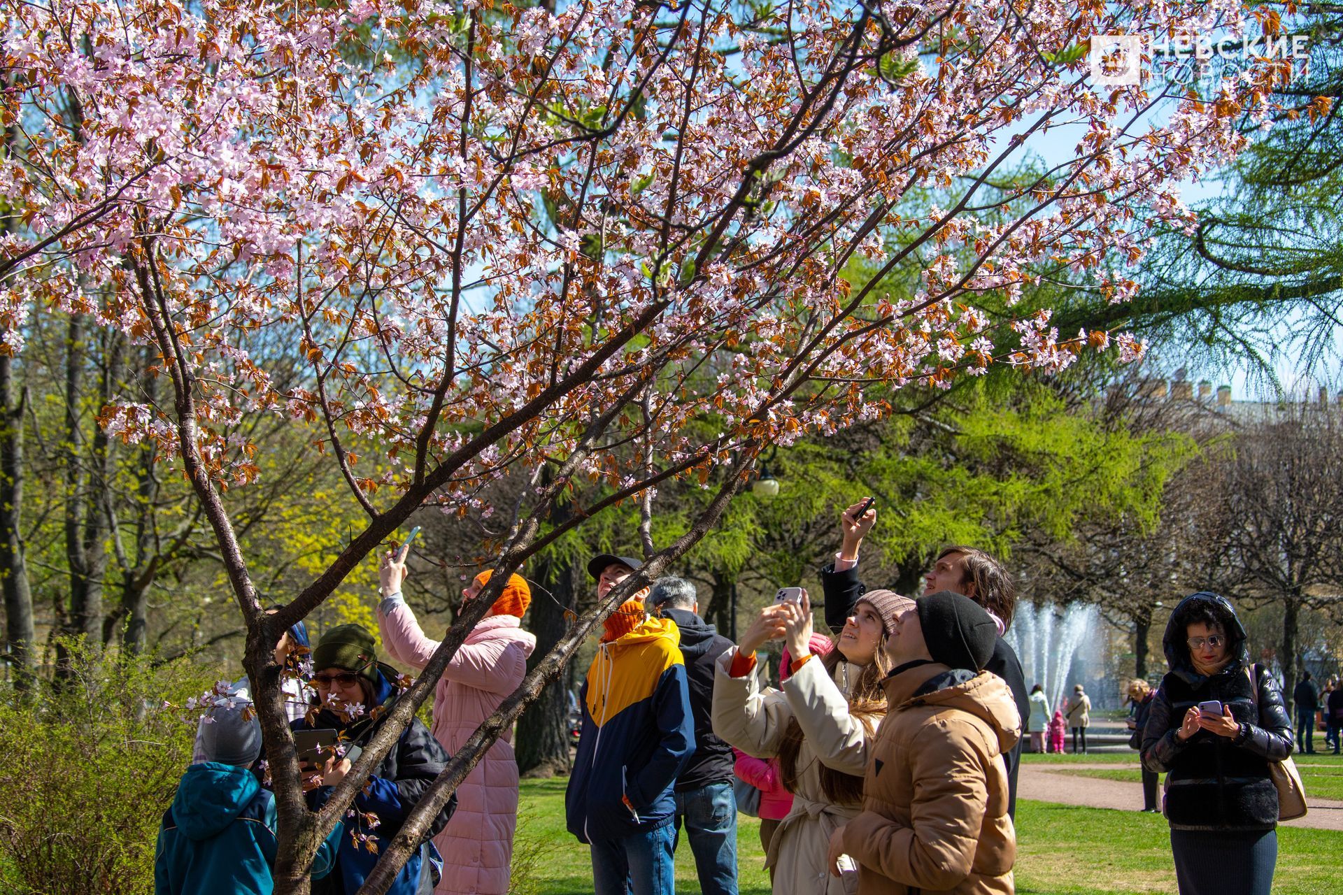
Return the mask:
{"type": "MultiPolygon", "coordinates": [[[[396,688],[392,686],[395,670],[379,663],[377,684],[373,691],[373,700],[384,710],[396,698],[396,688]]],[[[346,721],[329,708],[322,708],[316,718],[309,722],[301,718],[290,725],[294,730],[324,730],[333,729],[342,731],[345,738],[356,745],[368,742],[373,731],[381,723],[381,714],[371,718],[364,714],[355,721],[346,721]]],[[[392,746],[387,757],[383,758],[368,778],[368,784],[355,796],[353,808],[357,812],[372,813],[377,817],[377,825],[367,824],[361,814],[355,814],[353,820],[346,816],[346,836],[340,840],[340,851],[336,855],[336,872],[322,884],[313,886],[313,895],[353,895],[364,884],[368,874],[373,870],[379,856],[385,851],[392,837],[400,831],[407,814],[424,796],[434,778],[443,773],[449,755],[438,745],[419,718],[412,718],[410,726],[402,731],[396,745],[392,746]],[[363,841],[356,841],[356,836],[367,837],[373,843],[376,851],[369,851],[363,841]]],[[[318,786],[308,793],[308,806],[317,810],[330,798],[330,786],[318,786]]],[[[457,793],[451,796],[439,816],[430,824],[428,835],[436,836],[457,809],[457,793]]],[[[402,872],[392,880],[387,890],[389,895],[415,895],[419,891],[420,872],[428,874],[430,868],[424,861],[438,861],[438,849],[432,845],[422,847],[411,859],[406,861],[402,872]]]]}

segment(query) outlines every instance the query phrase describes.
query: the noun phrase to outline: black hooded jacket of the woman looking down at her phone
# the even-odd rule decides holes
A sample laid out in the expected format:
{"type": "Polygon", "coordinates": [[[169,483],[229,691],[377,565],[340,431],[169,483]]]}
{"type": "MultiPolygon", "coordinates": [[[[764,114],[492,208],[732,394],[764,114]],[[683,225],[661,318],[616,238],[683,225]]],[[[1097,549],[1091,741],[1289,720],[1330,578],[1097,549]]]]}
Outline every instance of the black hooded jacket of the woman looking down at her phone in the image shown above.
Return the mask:
{"type": "Polygon", "coordinates": [[[1272,676],[1260,670],[1252,682],[1245,628],[1236,611],[1215,593],[1185,597],[1166,625],[1164,647],[1170,671],[1143,725],[1143,765],[1168,772],[1164,809],[1171,829],[1272,829],[1277,825],[1277,789],[1268,764],[1292,754],[1292,723],[1272,676]],[[1194,668],[1186,643],[1189,619],[1201,605],[1226,619],[1232,656],[1210,678],[1194,668]],[[1213,699],[1232,708],[1240,734],[1228,738],[1199,730],[1179,742],[1175,734],[1185,713],[1213,699]]]}

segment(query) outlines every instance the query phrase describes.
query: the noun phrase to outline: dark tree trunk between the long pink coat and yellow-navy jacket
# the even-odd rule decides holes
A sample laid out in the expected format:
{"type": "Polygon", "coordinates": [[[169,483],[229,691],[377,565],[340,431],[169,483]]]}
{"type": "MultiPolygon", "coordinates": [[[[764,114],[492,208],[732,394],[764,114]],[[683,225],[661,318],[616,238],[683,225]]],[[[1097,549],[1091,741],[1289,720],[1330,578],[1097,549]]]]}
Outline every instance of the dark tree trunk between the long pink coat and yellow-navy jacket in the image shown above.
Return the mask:
{"type": "MultiPolygon", "coordinates": [[[[553,561],[543,570],[543,586],[551,594],[540,593],[532,600],[530,629],[536,635],[536,649],[528,659],[528,671],[536,668],[568,631],[565,611],[577,611],[575,578],[579,570],[571,562],[553,561]]],[[[525,777],[569,773],[569,679],[565,668],[517,719],[517,769],[525,777]]]]}

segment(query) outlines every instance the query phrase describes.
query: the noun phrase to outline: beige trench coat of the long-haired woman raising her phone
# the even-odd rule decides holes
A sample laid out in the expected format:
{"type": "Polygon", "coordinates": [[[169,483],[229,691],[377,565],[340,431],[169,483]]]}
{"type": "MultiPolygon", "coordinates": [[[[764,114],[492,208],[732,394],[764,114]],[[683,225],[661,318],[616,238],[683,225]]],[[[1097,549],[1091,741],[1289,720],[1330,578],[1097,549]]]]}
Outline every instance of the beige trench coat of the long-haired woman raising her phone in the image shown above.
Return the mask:
{"type": "MultiPolygon", "coordinates": [[[[766,867],[774,868],[774,895],[854,895],[858,874],[831,876],[826,865],[830,835],[857,816],[860,805],[830,804],[821,792],[819,764],[861,777],[868,766],[869,738],[862,722],[849,715],[849,702],[821,659],[811,659],[783,683],[783,691],[760,690],[755,674],[732,678],[728,668],[736,647],[719,657],[713,675],[713,733],[756,758],[779,753],[788,721],[802,727],[799,778],[792,810],[770,840],[766,867]]],[[[835,676],[855,675],[841,663],[835,676]]],[[[876,725],[880,717],[872,719],[876,725]]]]}

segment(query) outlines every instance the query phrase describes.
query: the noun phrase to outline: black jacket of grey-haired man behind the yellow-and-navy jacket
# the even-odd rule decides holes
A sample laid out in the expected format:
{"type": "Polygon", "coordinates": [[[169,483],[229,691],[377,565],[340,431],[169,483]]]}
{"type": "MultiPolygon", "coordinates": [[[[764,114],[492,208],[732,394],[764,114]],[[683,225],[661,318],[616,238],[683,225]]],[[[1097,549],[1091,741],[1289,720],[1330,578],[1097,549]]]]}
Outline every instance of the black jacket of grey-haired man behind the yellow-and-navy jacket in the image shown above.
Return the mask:
{"type": "Polygon", "coordinates": [[[690,714],[694,718],[694,754],[676,778],[676,792],[689,792],[709,784],[732,782],[735,757],[732,746],[713,733],[713,663],[732,647],[732,641],[704,619],[686,609],[662,609],[662,617],[676,623],[681,632],[681,657],[685,660],[686,686],[690,691],[690,714]]]}

